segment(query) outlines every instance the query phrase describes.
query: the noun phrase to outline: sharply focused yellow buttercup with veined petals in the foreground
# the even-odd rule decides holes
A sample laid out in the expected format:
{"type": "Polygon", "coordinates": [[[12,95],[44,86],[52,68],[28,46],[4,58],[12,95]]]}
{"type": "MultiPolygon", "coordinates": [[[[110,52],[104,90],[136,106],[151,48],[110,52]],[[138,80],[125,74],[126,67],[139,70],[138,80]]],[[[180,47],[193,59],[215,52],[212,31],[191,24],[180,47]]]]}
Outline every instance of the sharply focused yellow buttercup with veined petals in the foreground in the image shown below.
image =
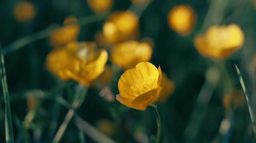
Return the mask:
{"type": "Polygon", "coordinates": [[[145,110],[154,104],[162,91],[162,72],[148,62],[141,62],[134,69],[126,70],[118,81],[116,99],[131,108],[145,110]]]}

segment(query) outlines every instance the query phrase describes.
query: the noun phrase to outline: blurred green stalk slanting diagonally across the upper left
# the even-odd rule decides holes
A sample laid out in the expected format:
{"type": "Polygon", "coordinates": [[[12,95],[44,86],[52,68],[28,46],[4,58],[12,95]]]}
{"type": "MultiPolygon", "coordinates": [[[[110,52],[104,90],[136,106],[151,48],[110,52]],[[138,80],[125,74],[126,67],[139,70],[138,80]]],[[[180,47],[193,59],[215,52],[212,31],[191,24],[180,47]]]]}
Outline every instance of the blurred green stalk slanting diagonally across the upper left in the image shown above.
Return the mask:
{"type": "MultiPolygon", "coordinates": [[[[95,22],[95,21],[102,20],[106,16],[107,16],[107,14],[106,15],[95,14],[95,15],[85,16],[85,17],[82,17],[82,18],[78,19],[78,24],[79,25],[86,25],[86,24],[89,24],[89,23],[92,23],[92,22],[95,22]]],[[[70,23],[70,24],[72,24],[72,23],[70,23]]],[[[23,48],[24,46],[26,46],[26,45],[28,45],[32,42],[35,42],[35,41],[40,40],[40,39],[44,39],[44,38],[50,36],[52,33],[54,33],[59,28],[61,28],[62,25],[63,24],[59,24],[59,25],[54,26],[54,27],[46,28],[45,30],[42,30],[40,32],[25,36],[23,38],[20,38],[20,39],[14,41],[13,43],[11,43],[10,45],[5,46],[4,49],[3,49],[3,53],[4,53],[4,55],[6,55],[6,54],[11,53],[13,51],[16,51],[20,48],[23,48]]]]}

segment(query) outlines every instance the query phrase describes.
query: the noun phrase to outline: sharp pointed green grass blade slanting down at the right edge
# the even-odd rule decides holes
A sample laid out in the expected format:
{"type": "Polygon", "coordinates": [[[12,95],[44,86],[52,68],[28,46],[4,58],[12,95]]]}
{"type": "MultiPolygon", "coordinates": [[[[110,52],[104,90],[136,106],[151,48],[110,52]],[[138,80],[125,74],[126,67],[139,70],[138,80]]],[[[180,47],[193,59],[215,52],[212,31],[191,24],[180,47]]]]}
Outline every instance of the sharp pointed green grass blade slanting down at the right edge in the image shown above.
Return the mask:
{"type": "Polygon", "coordinates": [[[251,100],[250,100],[250,97],[249,97],[249,95],[247,93],[247,90],[245,88],[244,80],[243,80],[243,77],[240,73],[240,70],[239,70],[239,68],[237,67],[236,64],[234,64],[234,66],[236,66],[237,73],[238,73],[238,78],[239,78],[239,81],[241,83],[242,89],[244,91],[244,94],[245,94],[245,97],[246,97],[246,100],[247,100],[248,109],[249,109],[251,122],[252,122],[252,127],[253,127],[253,131],[254,131],[254,135],[256,137],[256,121],[255,121],[255,116],[254,116],[253,109],[252,109],[252,106],[251,106],[251,100]]]}

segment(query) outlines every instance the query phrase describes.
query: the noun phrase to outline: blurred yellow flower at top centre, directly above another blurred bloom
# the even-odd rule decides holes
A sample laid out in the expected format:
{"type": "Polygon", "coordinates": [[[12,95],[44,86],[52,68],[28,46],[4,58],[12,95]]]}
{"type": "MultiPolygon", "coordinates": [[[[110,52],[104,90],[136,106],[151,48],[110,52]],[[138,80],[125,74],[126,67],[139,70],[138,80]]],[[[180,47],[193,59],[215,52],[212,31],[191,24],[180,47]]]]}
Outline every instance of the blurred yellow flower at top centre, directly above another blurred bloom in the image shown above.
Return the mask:
{"type": "Polygon", "coordinates": [[[139,19],[131,11],[113,13],[103,24],[103,35],[111,43],[137,39],[139,19]]]}

